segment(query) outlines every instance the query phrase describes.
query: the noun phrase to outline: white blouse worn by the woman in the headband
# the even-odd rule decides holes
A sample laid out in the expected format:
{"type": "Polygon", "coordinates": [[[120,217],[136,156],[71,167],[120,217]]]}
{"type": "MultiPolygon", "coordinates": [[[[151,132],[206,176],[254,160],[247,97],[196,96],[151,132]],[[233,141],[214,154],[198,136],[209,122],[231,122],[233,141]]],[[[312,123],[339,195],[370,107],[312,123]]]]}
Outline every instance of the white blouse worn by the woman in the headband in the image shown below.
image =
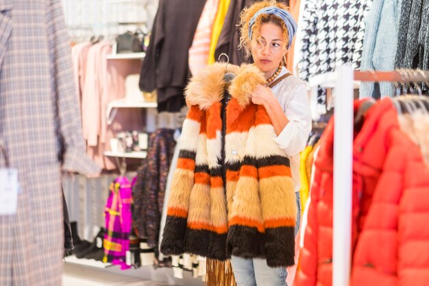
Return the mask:
{"type": "MultiPolygon", "coordinates": [[[[289,73],[283,67],[278,77],[289,73]]],[[[308,135],[311,131],[311,110],[308,104],[307,88],[305,82],[295,75],[290,75],[271,91],[280,102],[289,123],[273,140],[284,150],[291,160],[291,173],[295,184],[295,191],[301,187],[299,181],[299,152],[304,150],[308,135]]]]}

